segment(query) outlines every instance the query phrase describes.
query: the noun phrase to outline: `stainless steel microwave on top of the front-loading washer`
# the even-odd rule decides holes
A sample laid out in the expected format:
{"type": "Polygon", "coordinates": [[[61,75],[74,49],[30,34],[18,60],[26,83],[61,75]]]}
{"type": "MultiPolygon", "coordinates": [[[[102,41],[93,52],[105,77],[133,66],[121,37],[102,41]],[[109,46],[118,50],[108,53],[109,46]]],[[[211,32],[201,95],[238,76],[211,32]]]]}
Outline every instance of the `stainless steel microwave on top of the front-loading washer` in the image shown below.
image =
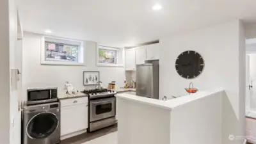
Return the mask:
{"type": "Polygon", "coordinates": [[[28,105],[58,101],[58,88],[28,89],[28,105]]]}

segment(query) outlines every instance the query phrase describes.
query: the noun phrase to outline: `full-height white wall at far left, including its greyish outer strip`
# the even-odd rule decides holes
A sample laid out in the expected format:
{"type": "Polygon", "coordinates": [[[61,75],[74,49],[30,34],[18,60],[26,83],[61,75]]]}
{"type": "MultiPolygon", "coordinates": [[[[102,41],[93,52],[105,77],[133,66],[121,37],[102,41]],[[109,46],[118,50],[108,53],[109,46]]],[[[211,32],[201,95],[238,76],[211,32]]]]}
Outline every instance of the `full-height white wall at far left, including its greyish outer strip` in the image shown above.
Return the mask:
{"type": "Polygon", "coordinates": [[[17,49],[17,3],[15,0],[0,1],[0,17],[0,143],[18,144],[20,139],[15,140],[15,138],[18,138],[17,131],[20,127],[15,125],[18,121],[14,120],[18,115],[16,81],[12,81],[11,85],[11,71],[17,68],[15,65],[17,49]]]}

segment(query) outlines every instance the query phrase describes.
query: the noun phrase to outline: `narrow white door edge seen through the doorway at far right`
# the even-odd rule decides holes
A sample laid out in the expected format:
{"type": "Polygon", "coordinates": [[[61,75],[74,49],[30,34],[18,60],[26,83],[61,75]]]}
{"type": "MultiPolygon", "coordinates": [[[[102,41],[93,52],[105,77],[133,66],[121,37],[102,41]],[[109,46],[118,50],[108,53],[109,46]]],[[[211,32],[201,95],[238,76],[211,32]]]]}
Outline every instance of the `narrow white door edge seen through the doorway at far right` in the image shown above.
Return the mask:
{"type": "Polygon", "coordinates": [[[250,111],[250,98],[251,98],[251,79],[250,79],[250,56],[246,55],[246,97],[245,97],[245,111],[250,111]]]}

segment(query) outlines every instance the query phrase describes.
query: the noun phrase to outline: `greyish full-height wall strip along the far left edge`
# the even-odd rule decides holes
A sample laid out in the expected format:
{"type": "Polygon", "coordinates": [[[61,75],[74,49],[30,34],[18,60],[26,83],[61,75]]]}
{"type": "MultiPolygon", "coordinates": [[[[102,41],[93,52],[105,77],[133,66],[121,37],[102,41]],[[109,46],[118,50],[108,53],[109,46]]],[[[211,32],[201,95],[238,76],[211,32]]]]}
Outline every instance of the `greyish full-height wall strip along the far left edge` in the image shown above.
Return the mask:
{"type": "Polygon", "coordinates": [[[10,143],[10,65],[9,65],[9,10],[8,0],[0,1],[0,90],[1,143],[10,143]]]}

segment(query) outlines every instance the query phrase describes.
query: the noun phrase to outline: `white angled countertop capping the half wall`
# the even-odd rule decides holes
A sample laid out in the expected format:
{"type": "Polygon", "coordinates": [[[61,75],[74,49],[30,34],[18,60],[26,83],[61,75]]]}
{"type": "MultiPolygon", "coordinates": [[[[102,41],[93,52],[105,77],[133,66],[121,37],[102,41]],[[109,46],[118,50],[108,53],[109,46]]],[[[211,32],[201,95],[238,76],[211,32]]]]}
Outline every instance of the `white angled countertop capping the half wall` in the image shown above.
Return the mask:
{"type": "Polygon", "coordinates": [[[196,99],[201,99],[202,97],[207,97],[209,95],[212,95],[214,93],[218,93],[218,92],[224,92],[224,90],[222,88],[217,88],[214,90],[207,90],[207,91],[202,91],[202,92],[198,92],[198,93],[194,93],[191,95],[185,95],[182,97],[179,97],[177,99],[171,99],[171,100],[157,100],[157,99],[150,99],[147,97],[140,97],[137,95],[130,95],[127,93],[117,93],[116,97],[120,98],[120,99],[127,99],[127,100],[132,100],[132,101],[136,101],[136,102],[141,102],[144,104],[149,104],[151,106],[156,106],[159,108],[163,108],[163,109],[174,109],[178,106],[181,106],[183,104],[186,104],[188,102],[191,102],[193,100],[196,99]]]}

